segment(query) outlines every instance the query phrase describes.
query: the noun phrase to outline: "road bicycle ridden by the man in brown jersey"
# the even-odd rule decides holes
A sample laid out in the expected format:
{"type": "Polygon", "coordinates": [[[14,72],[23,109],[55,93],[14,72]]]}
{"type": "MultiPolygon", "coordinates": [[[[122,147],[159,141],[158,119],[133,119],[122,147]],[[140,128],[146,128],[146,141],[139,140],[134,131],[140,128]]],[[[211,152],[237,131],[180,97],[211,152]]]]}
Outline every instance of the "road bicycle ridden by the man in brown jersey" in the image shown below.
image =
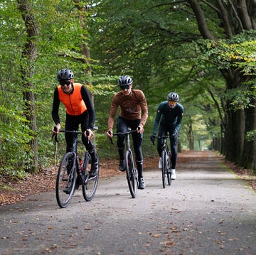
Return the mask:
{"type": "MultiPolygon", "coordinates": [[[[113,136],[118,136],[118,135],[125,136],[127,151],[125,153],[124,161],[125,161],[126,173],[127,173],[127,183],[128,183],[129,192],[131,193],[132,198],[135,198],[137,195],[138,171],[134,165],[134,157],[133,157],[132,149],[130,146],[129,134],[132,134],[135,132],[137,132],[137,130],[128,129],[127,132],[124,132],[124,133],[118,132],[113,134],[113,136]]],[[[112,138],[110,138],[110,142],[114,144],[112,138]]]]}

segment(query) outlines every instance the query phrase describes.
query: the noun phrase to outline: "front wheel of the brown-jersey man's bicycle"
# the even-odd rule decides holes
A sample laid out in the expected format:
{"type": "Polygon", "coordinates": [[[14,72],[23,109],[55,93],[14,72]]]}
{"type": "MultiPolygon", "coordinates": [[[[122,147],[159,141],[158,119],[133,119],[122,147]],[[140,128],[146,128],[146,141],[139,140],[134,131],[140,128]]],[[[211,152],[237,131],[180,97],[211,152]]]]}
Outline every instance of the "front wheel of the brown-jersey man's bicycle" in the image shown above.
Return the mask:
{"type": "Polygon", "coordinates": [[[132,195],[132,198],[135,198],[137,194],[138,183],[137,183],[137,170],[134,168],[132,151],[126,152],[125,163],[126,163],[126,173],[127,173],[127,182],[128,182],[129,191],[132,195]]]}

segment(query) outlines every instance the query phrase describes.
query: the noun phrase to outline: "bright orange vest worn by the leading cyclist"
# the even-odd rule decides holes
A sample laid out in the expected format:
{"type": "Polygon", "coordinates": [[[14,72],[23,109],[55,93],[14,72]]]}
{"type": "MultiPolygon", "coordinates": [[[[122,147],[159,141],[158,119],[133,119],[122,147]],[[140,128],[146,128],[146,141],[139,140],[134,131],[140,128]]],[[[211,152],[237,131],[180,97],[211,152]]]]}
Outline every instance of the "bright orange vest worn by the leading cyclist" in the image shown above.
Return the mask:
{"type": "Polygon", "coordinates": [[[65,105],[65,110],[70,115],[80,115],[87,110],[85,102],[82,99],[80,83],[73,83],[74,90],[72,94],[65,94],[58,86],[58,96],[61,102],[65,105]]]}

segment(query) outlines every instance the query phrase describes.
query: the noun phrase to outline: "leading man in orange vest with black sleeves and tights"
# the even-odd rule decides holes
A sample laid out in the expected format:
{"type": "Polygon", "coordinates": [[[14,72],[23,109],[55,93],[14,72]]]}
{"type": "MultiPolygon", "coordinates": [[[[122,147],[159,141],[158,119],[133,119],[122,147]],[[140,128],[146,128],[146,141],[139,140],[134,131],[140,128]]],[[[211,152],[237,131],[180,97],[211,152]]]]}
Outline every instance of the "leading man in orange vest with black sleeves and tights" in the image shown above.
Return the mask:
{"type": "MultiPolygon", "coordinates": [[[[87,151],[91,156],[91,169],[90,175],[93,177],[97,175],[98,171],[98,158],[95,145],[91,139],[94,136],[92,128],[95,121],[95,109],[92,105],[90,95],[84,85],[74,82],[74,74],[70,69],[61,69],[58,71],[57,80],[60,83],[54,90],[53,96],[53,121],[56,124],[58,133],[60,131],[60,117],[58,114],[60,102],[65,105],[66,119],[65,130],[75,131],[78,130],[81,124],[82,143],[85,145],[87,151]],[[89,133],[86,135],[86,131],[89,133]]],[[[65,133],[66,152],[71,151],[73,147],[73,134],[65,133]]]]}

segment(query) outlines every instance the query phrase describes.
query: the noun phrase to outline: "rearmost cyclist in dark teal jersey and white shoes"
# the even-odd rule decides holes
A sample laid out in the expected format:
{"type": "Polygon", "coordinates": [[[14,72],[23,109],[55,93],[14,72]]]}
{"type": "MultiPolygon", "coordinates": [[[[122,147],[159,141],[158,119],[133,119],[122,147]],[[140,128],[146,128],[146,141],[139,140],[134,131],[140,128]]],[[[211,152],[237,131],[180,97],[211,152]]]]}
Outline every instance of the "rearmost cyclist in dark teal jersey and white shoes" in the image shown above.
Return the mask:
{"type": "MultiPolygon", "coordinates": [[[[176,161],[177,161],[177,141],[178,131],[181,127],[181,120],[183,116],[183,106],[178,103],[178,94],[171,92],[167,95],[167,100],[161,102],[156,111],[154,119],[153,135],[150,137],[154,142],[156,138],[157,129],[159,129],[158,136],[166,136],[169,132],[171,141],[171,179],[176,179],[176,161]]],[[[159,153],[159,168],[161,168],[161,152],[164,146],[164,139],[158,139],[157,151],[159,153]]]]}

